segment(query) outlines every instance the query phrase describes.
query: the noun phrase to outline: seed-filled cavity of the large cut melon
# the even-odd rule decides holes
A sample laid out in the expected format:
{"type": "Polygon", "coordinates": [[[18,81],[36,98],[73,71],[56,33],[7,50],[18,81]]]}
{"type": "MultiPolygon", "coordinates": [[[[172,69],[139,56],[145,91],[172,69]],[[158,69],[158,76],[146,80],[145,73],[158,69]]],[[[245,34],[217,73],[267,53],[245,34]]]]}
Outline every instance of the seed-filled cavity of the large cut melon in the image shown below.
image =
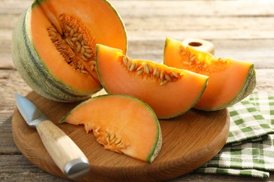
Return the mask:
{"type": "Polygon", "coordinates": [[[62,14],[59,17],[62,34],[51,25],[48,36],[56,49],[65,59],[65,62],[73,66],[80,73],[89,74],[96,71],[95,68],[95,39],[90,31],[77,18],[62,14]]]}

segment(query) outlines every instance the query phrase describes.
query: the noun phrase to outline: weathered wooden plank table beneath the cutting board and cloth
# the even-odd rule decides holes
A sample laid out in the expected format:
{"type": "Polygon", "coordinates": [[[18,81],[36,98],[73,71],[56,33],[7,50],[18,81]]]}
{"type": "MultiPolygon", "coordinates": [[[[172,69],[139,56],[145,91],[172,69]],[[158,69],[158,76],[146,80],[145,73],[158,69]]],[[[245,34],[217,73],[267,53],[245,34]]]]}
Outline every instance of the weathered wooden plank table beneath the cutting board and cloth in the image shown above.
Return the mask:
{"type": "MultiPolygon", "coordinates": [[[[215,45],[215,55],[253,62],[256,91],[274,90],[274,1],[121,1],[119,11],[129,40],[128,55],[161,62],[167,36],[202,38],[215,45]]],[[[11,133],[15,93],[31,88],[11,59],[11,34],[31,0],[0,0],[0,181],[64,181],[34,167],[18,151],[11,133]]],[[[263,181],[216,174],[187,174],[171,181],[263,181]]],[[[274,172],[270,179],[274,181],[274,172]]]]}

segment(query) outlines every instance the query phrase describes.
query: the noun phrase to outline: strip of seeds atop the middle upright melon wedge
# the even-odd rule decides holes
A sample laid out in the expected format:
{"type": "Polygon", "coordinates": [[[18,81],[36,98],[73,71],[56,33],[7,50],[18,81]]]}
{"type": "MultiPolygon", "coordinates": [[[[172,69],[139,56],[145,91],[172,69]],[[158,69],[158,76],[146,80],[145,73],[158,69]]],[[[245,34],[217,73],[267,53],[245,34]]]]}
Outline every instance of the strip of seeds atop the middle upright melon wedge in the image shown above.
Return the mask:
{"type": "Polygon", "coordinates": [[[155,79],[161,86],[174,82],[183,76],[183,73],[174,69],[163,68],[157,64],[150,64],[150,62],[132,60],[125,55],[121,57],[121,64],[129,72],[135,73],[136,76],[148,76],[155,79]]]}

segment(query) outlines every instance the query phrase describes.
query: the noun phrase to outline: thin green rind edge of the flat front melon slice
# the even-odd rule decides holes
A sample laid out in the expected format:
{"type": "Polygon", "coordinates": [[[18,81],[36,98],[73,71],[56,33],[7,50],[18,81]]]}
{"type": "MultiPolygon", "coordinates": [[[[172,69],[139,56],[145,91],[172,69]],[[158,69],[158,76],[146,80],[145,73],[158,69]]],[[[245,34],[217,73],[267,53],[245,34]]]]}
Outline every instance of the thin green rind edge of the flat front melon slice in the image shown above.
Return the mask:
{"type": "Polygon", "coordinates": [[[96,97],[92,97],[91,99],[88,99],[84,102],[81,102],[81,104],[74,107],[74,109],[72,109],[65,116],[63,116],[63,118],[61,118],[58,123],[65,123],[65,119],[67,118],[67,116],[69,116],[71,113],[73,113],[79,107],[84,106],[84,104],[86,104],[88,102],[91,102],[94,99],[100,99],[101,97],[108,97],[108,96],[128,97],[128,98],[134,99],[136,102],[141,103],[146,109],[148,109],[148,111],[150,111],[150,113],[152,113],[153,118],[155,118],[155,124],[157,125],[158,134],[157,134],[157,137],[155,139],[155,144],[152,146],[152,150],[150,151],[150,153],[148,154],[148,158],[146,159],[147,162],[151,163],[153,160],[155,160],[156,156],[159,154],[159,151],[161,151],[161,148],[162,148],[162,130],[161,130],[161,127],[159,125],[159,120],[157,119],[157,116],[156,116],[155,112],[150,108],[150,106],[148,106],[148,104],[143,102],[141,99],[138,99],[136,97],[126,95],[126,94],[103,94],[103,95],[99,95],[99,96],[96,96],[96,97]]]}

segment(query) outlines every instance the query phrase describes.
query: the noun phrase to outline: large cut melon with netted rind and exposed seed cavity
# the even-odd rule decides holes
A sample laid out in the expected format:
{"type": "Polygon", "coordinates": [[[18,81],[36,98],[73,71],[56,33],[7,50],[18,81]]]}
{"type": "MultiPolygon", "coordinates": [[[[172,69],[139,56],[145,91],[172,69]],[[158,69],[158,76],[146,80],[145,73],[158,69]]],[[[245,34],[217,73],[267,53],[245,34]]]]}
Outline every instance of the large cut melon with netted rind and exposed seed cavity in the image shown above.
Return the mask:
{"type": "Polygon", "coordinates": [[[37,0],[20,16],[12,38],[15,67],[34,91],[74,102],[100,90],[95,45],[126,52],[126,31],[108,1],[37,0]],[[98,8],[100,7],[100,8],[98,8]]]}

